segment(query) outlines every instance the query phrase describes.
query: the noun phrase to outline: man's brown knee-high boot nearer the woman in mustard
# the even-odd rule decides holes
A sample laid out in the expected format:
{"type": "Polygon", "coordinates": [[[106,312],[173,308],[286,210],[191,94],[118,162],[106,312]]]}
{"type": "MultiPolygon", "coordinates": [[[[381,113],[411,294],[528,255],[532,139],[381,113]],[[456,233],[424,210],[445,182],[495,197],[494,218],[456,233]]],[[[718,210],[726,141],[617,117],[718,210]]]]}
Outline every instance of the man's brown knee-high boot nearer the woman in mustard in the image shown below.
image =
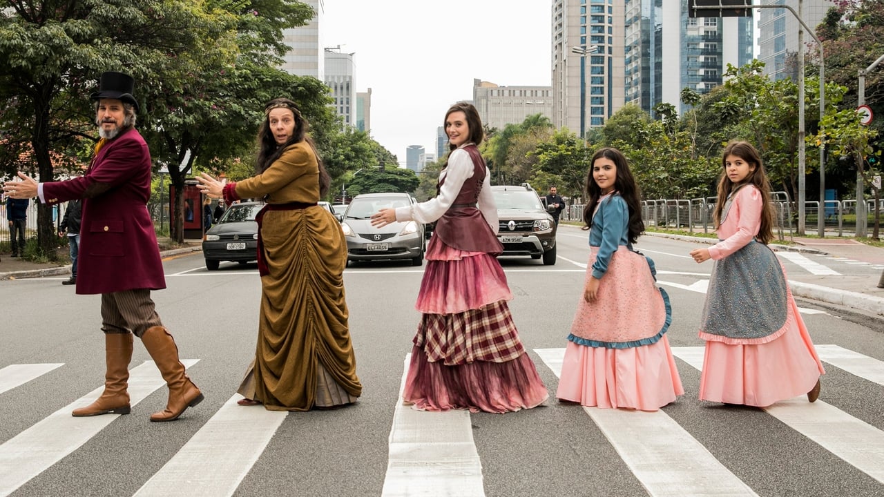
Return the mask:
{"type": "Polygon", "coordinates": [[[154,359],[156,367],[163,374],[169,386],[169,401],[166,409],[150,415],[151,421],[173,421],[181,416],[184,409],[194,407],[202,401],[200,389],[187,378],[184,364],[178,359],[178,346],[171,334],[163,326],[151,326],[141,336],[144,348],[154,359]]]}

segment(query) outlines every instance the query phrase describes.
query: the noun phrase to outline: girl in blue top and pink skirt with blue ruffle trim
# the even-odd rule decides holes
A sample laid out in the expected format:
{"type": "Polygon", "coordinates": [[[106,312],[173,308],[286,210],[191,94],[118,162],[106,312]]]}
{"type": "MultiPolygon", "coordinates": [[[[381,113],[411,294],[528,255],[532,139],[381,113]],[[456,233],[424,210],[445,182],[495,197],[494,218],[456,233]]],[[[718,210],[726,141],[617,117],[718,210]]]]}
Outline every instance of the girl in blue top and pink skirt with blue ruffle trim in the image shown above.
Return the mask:
{"type": "Polygon", "coordinates": [[[590,262],[562,363],[562,401],[657,410],[684,394],[666,332],[669,299],[650,258],[632,248],[644,231],[638,186],[626,157],[599,149],[583,210],[590,262]]]}

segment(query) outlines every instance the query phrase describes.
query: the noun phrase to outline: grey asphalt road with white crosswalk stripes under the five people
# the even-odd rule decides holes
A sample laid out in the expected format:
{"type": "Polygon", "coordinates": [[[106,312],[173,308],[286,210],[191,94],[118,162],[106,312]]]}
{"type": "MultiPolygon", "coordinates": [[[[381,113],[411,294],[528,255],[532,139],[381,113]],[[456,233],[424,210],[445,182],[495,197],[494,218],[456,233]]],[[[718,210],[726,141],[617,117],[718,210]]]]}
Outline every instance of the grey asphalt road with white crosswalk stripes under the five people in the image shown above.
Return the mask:
{"type": "MultiPolygon", "coordinates": [[[[156,378],[128,416],[70,417],[103,383],[99,297],[73,294],[61,277],[0,281],[0,495],[884,495],[880,322],[799,300],[827,367],[820,401],[698,401],[692,364],[702,358],[697,323],[712,265],[695,264],[689,242],[644,237],[636,248],[655,260],[670,296],[686,393],[656,414],[560,404],[556,357],[589,252],[573,226],[558,243],[553,266],[501,259],[515,323],[551,394],[544,407],[506,415],[401,408],[423,273],[408,263],[345,273],[360,401],[286,415],[232,405],[255,347],[255,265],[206,271],[200,254],[165,261],[157,310],[182,359],[196,361],[189,374],[206,396],[166,424],[148,421],[165,402],[156,378]],[[47,363],[57,365],[15,380],[13,365],[47,363]]],[[[806,271],[783,262],[789,274],[806,271]]],[[[133,369],[149,359],[136,343],[133,369]]]]}

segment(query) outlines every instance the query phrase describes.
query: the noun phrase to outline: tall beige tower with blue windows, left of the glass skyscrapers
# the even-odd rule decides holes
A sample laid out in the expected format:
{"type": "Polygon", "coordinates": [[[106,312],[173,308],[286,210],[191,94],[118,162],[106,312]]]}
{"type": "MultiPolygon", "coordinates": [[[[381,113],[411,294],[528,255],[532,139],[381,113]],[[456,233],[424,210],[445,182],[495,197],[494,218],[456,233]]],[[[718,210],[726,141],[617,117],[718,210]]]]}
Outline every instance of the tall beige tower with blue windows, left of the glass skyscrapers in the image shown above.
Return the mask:
{"type": "Polygon", "coordinates": [[[585,135],[625,97],[625,0],[552,0],[552,124],[585,135]]]}

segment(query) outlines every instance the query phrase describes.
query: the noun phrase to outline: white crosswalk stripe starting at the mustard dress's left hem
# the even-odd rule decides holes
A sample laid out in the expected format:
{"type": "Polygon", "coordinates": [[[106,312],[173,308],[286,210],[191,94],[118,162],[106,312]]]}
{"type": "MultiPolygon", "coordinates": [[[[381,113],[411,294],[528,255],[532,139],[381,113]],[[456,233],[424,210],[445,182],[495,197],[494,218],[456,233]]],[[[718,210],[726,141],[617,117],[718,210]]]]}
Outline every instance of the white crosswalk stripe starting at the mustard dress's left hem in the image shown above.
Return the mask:
{"type": "Polygon", "coordinates": [[[241,398],[235,394],[226,401],[135,495],[235,493],[288,415],[263,406],[237,405],[241,398]]]}

